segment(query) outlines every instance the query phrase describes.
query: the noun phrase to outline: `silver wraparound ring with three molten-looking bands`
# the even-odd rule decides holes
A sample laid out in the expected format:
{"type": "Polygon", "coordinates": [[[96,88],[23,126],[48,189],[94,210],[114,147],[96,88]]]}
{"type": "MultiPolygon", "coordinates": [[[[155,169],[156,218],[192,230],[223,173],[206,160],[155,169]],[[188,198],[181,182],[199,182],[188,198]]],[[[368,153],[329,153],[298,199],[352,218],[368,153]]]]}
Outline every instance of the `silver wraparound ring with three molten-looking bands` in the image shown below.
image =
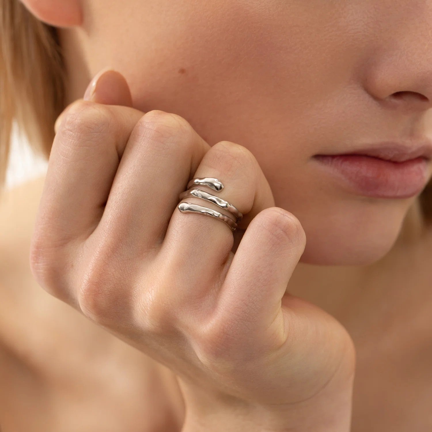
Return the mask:
{"type": "Polygon", "coordinates": [[[214,217],[221,220],[222,222],[225,222],[226,225],[228,225],[229,228],[234,232],[237,228],[237,223],[240,222],[243,217],[242,213],[237,209],[237,207],[233,206],[231,203],[223,200],[222,198],[216,197],[213,194],[209,194],[193,186],[209,187],[213,191],[220,192],[223,189],[222,181],[214,177],[193,178],[187,184],[187,190],[182,192],[179,195],[179,198],[180,200],[183,200],[186,197],[197,197],[206,201],[210,201],[222,209],[227,210],[230,214],[232,214],[233,218],[226,216],[216,210],[194,203],[181,202],[177,206],[178,210],[180,210],[182,213],[198,213],[205,216],[214,217]]]}

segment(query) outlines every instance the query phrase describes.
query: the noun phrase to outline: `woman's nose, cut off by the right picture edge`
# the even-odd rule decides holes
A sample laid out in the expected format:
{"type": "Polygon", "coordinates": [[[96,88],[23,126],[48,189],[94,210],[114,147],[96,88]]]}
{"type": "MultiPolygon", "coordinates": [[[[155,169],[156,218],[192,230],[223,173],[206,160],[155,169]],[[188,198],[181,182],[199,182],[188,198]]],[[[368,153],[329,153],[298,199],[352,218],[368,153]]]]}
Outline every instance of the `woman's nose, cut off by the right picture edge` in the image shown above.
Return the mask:
{"type": "Polygon", "coordinates": [[[393,23],[386,32],[391,36],[377,42],[365,71],[366,91],[381,105],[407,114],[432,107],[432,8],[428,9],[416,22],[393,23]]]}

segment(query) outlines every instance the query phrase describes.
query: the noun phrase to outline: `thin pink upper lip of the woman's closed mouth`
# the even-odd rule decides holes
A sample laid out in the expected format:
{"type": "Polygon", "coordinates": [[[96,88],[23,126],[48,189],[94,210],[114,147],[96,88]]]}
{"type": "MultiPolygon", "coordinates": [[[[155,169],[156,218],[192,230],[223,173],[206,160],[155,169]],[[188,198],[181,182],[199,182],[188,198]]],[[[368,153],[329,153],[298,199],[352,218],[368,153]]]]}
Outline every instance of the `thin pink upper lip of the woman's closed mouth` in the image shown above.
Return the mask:
{"type": "Polygon", "coordinates": [[[367,155],[393,162],[404,162],[418,157],[431,159],[432,141],[427,139],[384,141],[374,145],[362,146],[352,152],[343,154],[367,155]]]}

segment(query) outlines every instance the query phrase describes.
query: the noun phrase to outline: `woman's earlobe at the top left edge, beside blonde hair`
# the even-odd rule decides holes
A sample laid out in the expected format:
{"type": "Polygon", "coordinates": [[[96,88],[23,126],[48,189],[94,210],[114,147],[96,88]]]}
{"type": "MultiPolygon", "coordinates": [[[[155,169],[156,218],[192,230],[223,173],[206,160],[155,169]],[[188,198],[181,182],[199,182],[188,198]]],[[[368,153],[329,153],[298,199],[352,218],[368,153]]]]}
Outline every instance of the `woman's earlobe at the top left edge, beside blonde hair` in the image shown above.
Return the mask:
{"type": "Polygon", "coordinates": [[[81,0],[21,0],[40,21],[54,27],[73,27],[83,22],[81,0]]]}

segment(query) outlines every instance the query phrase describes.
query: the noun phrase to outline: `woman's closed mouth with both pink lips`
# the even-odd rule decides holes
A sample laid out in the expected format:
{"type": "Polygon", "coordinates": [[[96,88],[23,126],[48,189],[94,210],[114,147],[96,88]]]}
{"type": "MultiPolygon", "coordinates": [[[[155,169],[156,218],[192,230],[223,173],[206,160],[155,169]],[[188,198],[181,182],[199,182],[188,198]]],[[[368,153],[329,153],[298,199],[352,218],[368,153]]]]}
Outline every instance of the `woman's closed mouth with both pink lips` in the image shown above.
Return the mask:
{"type": "Polygon", "coordinates": [[[375,198],[409,198],[426,186],[432,142],[378,143],[349,153],[313,158],[350,192],[375,198]]]}

